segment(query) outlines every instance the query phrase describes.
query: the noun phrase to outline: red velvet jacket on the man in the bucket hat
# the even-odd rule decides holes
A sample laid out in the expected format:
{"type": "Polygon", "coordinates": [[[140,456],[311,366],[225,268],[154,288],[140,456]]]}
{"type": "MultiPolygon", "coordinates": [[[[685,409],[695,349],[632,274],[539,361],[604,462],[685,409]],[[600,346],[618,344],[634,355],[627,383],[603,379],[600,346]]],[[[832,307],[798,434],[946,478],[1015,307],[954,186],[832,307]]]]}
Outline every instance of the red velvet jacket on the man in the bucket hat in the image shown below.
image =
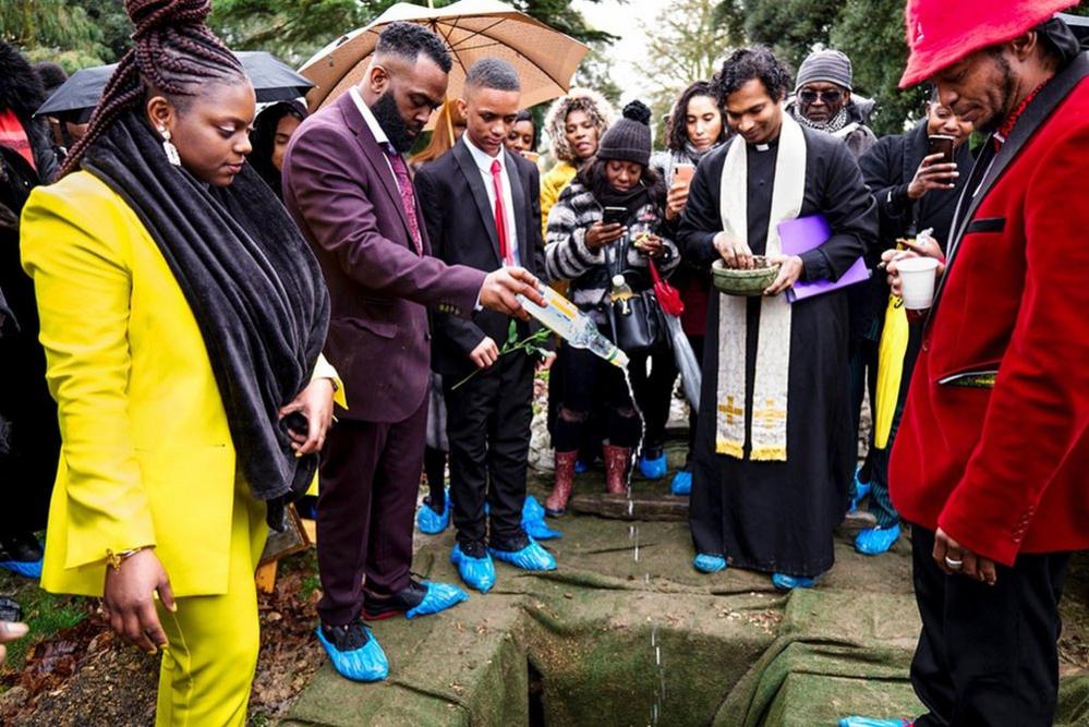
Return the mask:
{"type": "Polygon", "coordinates": [[[1089,548],[1089,78],[981,197],[923,332],[890,483],[906,520],[1009,566],[1089,548]],[[993,385],[965,385],[980,372],[993,385]]]}

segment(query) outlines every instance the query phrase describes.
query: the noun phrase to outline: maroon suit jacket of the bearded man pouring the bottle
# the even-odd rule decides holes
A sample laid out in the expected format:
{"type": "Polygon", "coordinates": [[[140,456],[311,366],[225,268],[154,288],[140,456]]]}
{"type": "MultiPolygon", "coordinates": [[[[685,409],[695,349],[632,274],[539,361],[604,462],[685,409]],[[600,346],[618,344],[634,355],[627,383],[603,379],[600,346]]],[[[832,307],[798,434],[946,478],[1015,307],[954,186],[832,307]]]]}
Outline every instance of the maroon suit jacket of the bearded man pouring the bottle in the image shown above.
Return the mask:
{"type": "Polygon", "coordinates": [[[385,153],[349,94],[307,118],[283,158],[283,204],[317,254],[332,302],[325,355],[348,395],[339,416],[400,422],[429,383],[427,306],[468,317],[485,274],[423,256],[385,153]]]}

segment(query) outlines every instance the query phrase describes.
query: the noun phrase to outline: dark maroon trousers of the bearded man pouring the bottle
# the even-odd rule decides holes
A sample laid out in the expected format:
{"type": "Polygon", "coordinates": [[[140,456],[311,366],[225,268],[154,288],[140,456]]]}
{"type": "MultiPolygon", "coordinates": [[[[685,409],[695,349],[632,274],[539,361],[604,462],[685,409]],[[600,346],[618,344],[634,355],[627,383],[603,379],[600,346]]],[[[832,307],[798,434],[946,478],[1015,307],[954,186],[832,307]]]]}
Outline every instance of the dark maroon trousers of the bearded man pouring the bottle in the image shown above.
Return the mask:
{"type": "Polygon", "coordinates": [[[342,419],[329,429],[317,498],[322,622],[343,626],[359,615],[364,579],[378,594],[409,584],[426,422],[424,397],[403,422],[342,419]]]}

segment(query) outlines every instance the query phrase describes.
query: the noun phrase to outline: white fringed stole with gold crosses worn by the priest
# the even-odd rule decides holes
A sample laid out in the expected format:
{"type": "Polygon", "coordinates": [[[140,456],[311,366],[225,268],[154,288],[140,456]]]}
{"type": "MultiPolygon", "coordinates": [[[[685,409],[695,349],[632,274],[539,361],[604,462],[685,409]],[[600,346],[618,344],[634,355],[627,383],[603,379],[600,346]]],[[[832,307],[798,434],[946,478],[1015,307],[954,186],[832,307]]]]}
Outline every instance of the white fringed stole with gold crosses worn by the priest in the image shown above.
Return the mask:
{"type": "MultiPolygon", "coordinates": [[[[723,230],[748,242],[748,159],[742,138],[726,153],[721,186],[723,230]]],[[[789,114],[783,114],[775,183],[767,226],[769,256],[782,253],[778,223],[801,213],[806,193],[806,137],[789,114]]],[[[752,402],[746,401],[746,346],[749,299],[718,295],[718,411],[715,451],[737,459],[745,457],[747,407],[752,407],[749,459],[786,461],[787,390],[790,374],[790,303],[786,295],[764,298],[760,303],[757,336],[757,368],[752,402]]]]}

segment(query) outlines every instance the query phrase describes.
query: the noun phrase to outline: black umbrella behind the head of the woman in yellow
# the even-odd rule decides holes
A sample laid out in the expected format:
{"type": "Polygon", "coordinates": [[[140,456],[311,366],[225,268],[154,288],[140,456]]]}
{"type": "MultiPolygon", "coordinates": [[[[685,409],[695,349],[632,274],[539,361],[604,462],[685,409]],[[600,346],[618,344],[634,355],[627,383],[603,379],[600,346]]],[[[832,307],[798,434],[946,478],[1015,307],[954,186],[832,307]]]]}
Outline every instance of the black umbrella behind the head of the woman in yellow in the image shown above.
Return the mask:
{"type": "MultiPolygon", "coordinates": [[[[299,98],[305,96],[314,85],[271,53],[263,50],[240,50],[234,54],[242,61],[242,68],[245,69],[254,90],[257,92],[258,102],[299,98]]],[[[51,116],[61,121],[85,123],[90,118],[90,112],[98,104],[102,89],[106,88],[117,65],[110,63],[76,71],[46,99],[35,116],[51,116]]]]}

